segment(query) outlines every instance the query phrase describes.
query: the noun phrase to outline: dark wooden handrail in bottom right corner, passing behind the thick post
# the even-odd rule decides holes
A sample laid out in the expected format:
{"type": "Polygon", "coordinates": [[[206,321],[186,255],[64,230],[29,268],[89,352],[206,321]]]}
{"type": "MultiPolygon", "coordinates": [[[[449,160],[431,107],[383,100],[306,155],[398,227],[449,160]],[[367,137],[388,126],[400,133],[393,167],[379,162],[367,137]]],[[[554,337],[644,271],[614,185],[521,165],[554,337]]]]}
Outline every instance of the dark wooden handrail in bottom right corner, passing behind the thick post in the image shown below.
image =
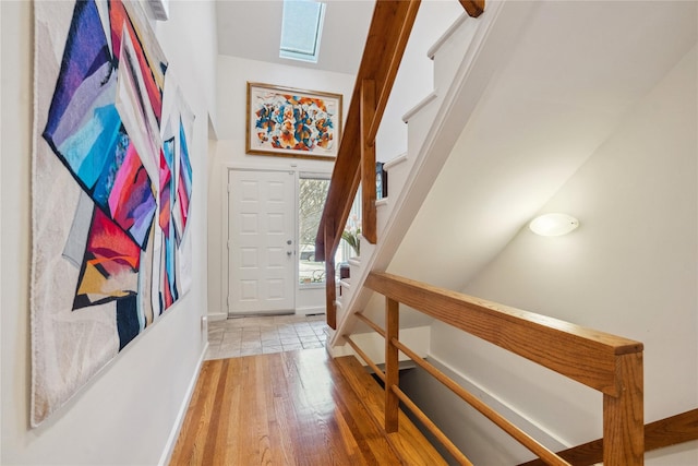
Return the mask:
{"type": "MultiPolygon", "coordinates": [[[[665,449],[698,440],[698,408],[645,425],[645,451],[665,449]]],[[[591,466],[603,461],[603,439],[597,439],[557,454],[575,466],[591,466]]],[[[542,459],[519,466],[545,466],[542,459]]]]}

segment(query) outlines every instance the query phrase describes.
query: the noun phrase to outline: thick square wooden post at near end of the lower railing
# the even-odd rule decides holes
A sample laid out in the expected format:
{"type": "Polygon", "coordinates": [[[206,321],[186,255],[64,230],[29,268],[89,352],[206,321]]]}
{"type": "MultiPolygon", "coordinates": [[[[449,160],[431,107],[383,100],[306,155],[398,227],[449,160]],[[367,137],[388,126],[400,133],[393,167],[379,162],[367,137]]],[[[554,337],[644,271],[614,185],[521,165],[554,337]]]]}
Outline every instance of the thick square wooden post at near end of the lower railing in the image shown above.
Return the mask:
{"type": "Polygon", "coordinates": [[[616,356],[618,395],[603,395],[603,464],[639,466],[645,461],[642,353],[616,356]]]}

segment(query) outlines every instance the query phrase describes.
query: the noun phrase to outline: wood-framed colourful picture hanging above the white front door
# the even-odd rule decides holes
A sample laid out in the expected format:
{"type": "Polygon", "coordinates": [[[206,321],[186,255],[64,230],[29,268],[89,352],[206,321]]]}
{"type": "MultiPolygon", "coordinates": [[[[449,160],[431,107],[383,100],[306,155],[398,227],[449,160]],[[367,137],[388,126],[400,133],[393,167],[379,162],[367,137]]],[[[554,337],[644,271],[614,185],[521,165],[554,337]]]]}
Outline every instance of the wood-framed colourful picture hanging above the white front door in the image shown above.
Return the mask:
{"type": "Polygon", "coordinates": [[[334,160],[341,110],[341,94],[248,82],[245,152],[334,160]]]}

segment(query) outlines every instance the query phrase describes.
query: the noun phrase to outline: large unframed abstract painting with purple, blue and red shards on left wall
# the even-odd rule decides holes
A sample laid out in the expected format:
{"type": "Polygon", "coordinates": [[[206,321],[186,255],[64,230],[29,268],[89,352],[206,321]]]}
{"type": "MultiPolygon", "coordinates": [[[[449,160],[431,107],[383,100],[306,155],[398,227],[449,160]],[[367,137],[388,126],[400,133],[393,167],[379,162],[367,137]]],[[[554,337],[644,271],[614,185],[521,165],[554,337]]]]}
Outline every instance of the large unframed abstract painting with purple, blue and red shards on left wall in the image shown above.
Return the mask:
{"type": "Polygon", "coordinates": [[[139,3],[34,12],[38,426],[189,290],[194,116],[139,3]]]}

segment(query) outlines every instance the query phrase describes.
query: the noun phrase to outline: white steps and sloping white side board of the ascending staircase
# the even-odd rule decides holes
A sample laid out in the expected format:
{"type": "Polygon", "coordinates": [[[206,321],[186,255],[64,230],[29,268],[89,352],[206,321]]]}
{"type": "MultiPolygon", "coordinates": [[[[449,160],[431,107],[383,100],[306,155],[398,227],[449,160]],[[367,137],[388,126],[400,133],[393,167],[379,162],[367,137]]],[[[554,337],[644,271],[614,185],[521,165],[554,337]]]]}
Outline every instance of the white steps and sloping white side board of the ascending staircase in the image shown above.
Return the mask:
{"type": "MultiPolygon", "coordinates": [[[[341,280],[336,292],[337,326],[330,340],[335,356],[347,354],[341,335],[354,332],[353,313],[373,312],[372,291],[366,290],[363,283],[371,271],[385,271],[389,265],[474,110],[478,96],[507,57],[508,40],[516,37],[520,19],[520,8],[512,8],[506,2],[489,3],[477,19],[466,12],[455,19],[429,50],[434,89],[402,117],[407,124],[407,152],[384,165],[388,174],[388,195],[375,202],[377,241],[372,244],[362,239],[361,256],[350,261],[351,278],[341,280]]],[[[400,74],[397,79],[400,80],[400,74]]],[[[429,320],[419,316],[404,322],[404,326],[422,328],[422,332],[414,331],[417,339],[428,338],[429,324],[429,320]]]]}

